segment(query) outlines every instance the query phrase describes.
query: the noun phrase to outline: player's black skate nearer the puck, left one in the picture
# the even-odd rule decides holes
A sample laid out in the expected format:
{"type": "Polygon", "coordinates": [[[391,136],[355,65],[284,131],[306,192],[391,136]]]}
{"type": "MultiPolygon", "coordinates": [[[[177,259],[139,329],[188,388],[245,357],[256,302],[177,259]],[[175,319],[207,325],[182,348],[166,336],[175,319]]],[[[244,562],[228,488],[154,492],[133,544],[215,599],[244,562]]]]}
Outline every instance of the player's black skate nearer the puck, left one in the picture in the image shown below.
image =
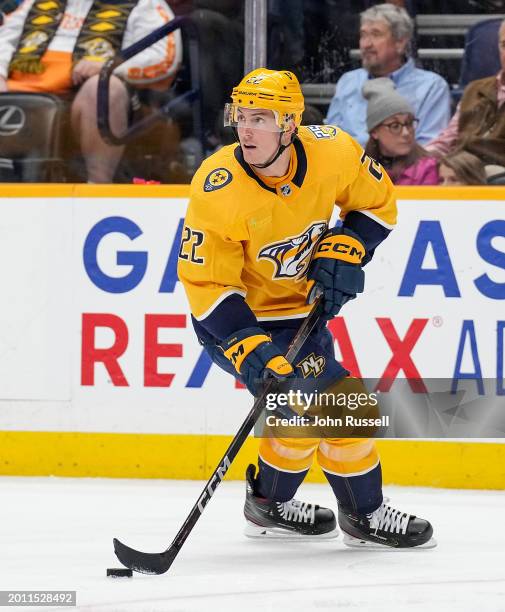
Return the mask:
{"type": "Polygon", "coordinates": [[[321,508],[292,499],[275,502],[255,494],[256,468],[250,465],[246,471],[246,500],[244,515],[247,520],[245,535],[250,538],[301,538],[329,539],[338,536],[335,514],[329,508],[321,508]]]}

